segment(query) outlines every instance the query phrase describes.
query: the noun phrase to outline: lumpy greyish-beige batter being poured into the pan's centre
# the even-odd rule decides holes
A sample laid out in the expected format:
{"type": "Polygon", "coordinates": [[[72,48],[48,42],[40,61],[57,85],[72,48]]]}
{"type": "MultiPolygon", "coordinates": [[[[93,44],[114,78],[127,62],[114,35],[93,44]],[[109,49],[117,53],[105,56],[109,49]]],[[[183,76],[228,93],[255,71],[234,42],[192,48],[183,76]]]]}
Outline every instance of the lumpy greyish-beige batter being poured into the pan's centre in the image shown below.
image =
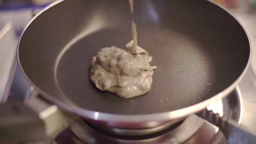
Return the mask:
{"type": "MultiPolygon", "coordinates": [[[[133,13],[133,0],[129,0],[133,13]]],[[[92,57],[91,81],[101,91],[109,91],[122,98],[147,93],[152,85],[152,57],[137,45],[137,31],[132,20],[132,41],[124,49],[105,47],[92,57]]]]}

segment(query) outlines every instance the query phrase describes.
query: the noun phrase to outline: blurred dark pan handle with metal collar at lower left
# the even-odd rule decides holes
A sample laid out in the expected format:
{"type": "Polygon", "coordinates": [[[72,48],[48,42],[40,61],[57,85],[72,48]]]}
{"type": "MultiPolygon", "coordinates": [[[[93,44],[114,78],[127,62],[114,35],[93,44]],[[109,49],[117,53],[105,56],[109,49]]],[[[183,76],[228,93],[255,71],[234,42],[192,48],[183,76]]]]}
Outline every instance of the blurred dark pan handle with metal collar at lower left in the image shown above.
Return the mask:
{"type": "Polygon", "coordinates": [[[25,103],[7,101],[0,105],[0,143],[50,142],[77,118],[32,92],[25,103]]]}

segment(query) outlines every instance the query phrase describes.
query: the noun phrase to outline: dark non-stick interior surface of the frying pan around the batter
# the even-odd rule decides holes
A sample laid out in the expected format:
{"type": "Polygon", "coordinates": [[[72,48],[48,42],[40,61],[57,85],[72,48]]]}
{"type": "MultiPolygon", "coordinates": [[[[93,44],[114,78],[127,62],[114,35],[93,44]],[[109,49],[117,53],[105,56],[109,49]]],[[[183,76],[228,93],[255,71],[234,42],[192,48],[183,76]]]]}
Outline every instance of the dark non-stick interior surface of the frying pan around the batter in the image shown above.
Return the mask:
{"type": "Polygon", "coordinates": [[[83,109],[121,114],[181,109],[213,97],[245,69],[240,24],[208,1],[135,1],[138,44],[153,56],[152,90],[123,99],[89,79],[92,56],[131,40],[128,1],[64,1],[39,15],[19,45],[21,66],[46,93],[83,109]]]}

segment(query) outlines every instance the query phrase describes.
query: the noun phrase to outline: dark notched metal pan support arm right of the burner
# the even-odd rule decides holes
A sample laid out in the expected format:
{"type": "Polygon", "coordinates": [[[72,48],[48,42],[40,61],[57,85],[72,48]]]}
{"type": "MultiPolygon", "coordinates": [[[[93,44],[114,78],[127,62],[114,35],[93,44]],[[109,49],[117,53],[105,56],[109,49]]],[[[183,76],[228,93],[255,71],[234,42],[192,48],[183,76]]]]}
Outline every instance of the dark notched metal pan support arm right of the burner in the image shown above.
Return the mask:
{"type": "Polygon", "coordinates": [[[220,117],[218,113],[207,109],[198,116],[219,127],[228,139],[228,144],[256,143],[256,135],[232,119],[220,117]]]}

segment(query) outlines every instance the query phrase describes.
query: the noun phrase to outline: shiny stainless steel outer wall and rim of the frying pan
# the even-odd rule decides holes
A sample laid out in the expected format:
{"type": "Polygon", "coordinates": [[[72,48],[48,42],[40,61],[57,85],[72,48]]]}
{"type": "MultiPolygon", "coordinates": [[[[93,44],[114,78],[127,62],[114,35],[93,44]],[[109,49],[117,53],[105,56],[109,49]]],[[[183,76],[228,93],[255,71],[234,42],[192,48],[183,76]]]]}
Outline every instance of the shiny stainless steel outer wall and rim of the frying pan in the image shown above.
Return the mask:
{"type": "MultiPolygon", "coordinates": [[[[53,4],[50,4],[44,10],[42,10],[38,15],[44,13],[45,10],[47,10],[51,7],[54,7],[54,5],[61,3],[61,2],[63,2],[63,0],[59,0],[59,1],[54,2],[53,4]]],[[[214,4],[216,4],[216,3],[214,3],[214,4]]],[[[37,16],[35,16],[31,20],[31,22],[34,19],[37,19],[37,16]]],[[[30,25],[30,23],[28,23],[27,27],[30,25]]],[[[241,23],[240,23],[240,25],[241,25],[241,23]]],[[[24,32],[26,31],[26,28],[25,28],[24,32]]],[[[245,28],[243,28],[243,29],[245,29],[245,28]]],[[[247,34],[247,32],[246,32],[246,34],[247,34]]],[[[247,34],[247,38],[248,37],[249,36],[247,34]]],[[[22,36],[21,36],[21,38],[22,38],[22,36]]],[[[21,40],[21,38],[20,38],[20,40],[21,40]]],[[[20,43],[20,40],[19,40],[19,43],[20,43]]],[[[215,95],[214,97],[212,97],[210,99],[202,101],[201,103],[191,105],[191,106],[185,107],[183,109],[169,111],[169,112],[162,112],[162,113],[147,114],[147,115],[116,115],[116,114],[112,114],[112,113],[102,113],[102,112],[97,112],[97,111],[80,109],[77,106],[67,105],[65,103],[62,103],[60,100],[57,100],[57,99],[51,97],[51,95],[49,95],[48,93],[45,93],[44,91],[42,91],[42,89],[40,89],[39,87],[34,85],[34,83],[28,78],[28,76],[25,74],[25,71],[21,67],[21,63],[19,60],[19,53],[17,53],[17,57],[18,57],[19,68],[20,68],[22,74],[24,75],[24,77],[26,78],[26,80],[30,83],[31,87],[34,88],[34,91],[38,92],[40,95],[42,95],[42,97],[44,97],[46,100],[50,101],[54,105],[60,107],[62,110],[74,113],[80,117],[89,119],[90,121],[96,121],[96,122],[99,122],[102,124],[107,124],[108,126],[111,126],[111,127],[127,127],[127,125],[130,125],[130,126],[136,125],[136,127],[149,128],[149,127],[152,127],[153,125],[155,127],[156,125],[161,125],[161,124],[173,121],[174,119],[183,119],[193,113],[196,113],[196,112],[199,112],[199,111],[205,109],[208,105],[218,101],[219,99],[226,97],[226,95],[228,95],[229,93],[234,91],[234,89],[236,88],[238,83],[240,83],[240,81],[243,79],[243,77],[246,75],[246,72],[250,67],[250,62],[251,62],[251,57],[252,57],[251,56],[252,48],[251,48],[250,40],[249,40],[249,45],[250,45],[250,55],[249,55],[249,59],[248,59],[245,70],[243,70],[243,73],[238,77],[238,79],[234,83],[232,83],[232,85],[230,85],[228,88],[224,89],[224,91],[218,93],[217,95],[215,95]]],[[[19,51],[19,44],[18,44],[18,51],[19,51]]]]}

